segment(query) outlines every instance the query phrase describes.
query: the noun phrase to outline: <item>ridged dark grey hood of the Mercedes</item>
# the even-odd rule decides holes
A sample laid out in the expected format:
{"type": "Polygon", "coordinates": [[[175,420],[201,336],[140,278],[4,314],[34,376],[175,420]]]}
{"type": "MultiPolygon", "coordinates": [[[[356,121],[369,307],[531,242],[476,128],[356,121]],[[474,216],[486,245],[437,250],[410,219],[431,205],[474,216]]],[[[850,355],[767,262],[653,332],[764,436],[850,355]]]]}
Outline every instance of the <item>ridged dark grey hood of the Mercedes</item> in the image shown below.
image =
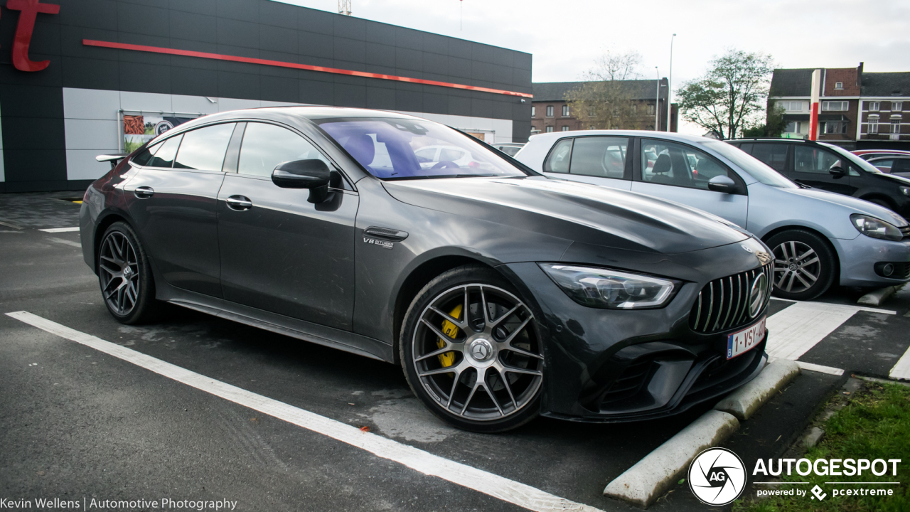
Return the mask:
{"type": "Polygon", "coordinates": [[[676,254],[750,236],[700,210],[562,179],[413,179],[383,185],[395,199],[421,208],[629,251],[676,254]]]}

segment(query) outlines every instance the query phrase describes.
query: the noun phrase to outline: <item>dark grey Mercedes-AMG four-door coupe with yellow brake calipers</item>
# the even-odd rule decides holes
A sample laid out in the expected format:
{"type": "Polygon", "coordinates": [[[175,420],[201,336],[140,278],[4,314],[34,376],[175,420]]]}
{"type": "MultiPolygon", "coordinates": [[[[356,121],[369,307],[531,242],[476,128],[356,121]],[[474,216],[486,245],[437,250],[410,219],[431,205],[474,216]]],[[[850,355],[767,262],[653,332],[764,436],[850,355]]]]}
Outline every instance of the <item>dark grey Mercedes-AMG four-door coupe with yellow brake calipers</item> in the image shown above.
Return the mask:
{"type": "Polygon", "coordinates": [[[401,114],[190,121],[93,183],[80,228],[117,321],[170,302],[400,364],[433,414],[475,431],[672,415],[767,359],[761,241],[401,114]],[[430,146],[489,170],[424,169],[430,146]]]}

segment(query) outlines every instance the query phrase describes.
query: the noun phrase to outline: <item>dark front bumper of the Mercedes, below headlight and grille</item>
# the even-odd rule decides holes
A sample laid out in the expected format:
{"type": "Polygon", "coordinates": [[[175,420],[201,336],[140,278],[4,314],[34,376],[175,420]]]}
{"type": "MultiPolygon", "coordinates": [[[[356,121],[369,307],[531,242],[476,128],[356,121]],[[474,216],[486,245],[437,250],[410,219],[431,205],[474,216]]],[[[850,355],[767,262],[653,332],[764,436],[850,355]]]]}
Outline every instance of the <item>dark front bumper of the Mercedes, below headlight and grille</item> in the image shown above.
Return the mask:
{"type": "MultiPolygon", "coordinates": [[[[690,327],[693,303],[703,286],[749,268],[736,252],[742,251],[739,244],[735,245],[735,251],[713,254],[727,257],[727,261],[713,261],[718,273],[704,276],[706,269],[699,269],[696,273],[703,277],[697,281],[690,274],[669,304],[652,310],[584,307],[562,292],[536,263],[506,265],[539,306],[535,314],[541,315],[547,365],[541,415],[591,423],[675,415],[728,394],[761,373],[771,333],[729,361],[726,347],[730,333],[758,322],[766,309],[752,323],[716,333],[696,333],[690,327]]],[[[748,264],[756,263],[753,258],[748,264]]]]}

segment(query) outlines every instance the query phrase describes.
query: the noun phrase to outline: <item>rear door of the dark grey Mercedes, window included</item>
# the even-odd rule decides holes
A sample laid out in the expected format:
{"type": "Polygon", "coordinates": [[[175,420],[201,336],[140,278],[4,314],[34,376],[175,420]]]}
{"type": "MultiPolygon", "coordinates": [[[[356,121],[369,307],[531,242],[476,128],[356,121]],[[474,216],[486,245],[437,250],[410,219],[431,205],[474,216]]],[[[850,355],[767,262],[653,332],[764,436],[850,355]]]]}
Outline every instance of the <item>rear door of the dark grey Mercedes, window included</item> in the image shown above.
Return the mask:
{"type": "Polygon", "coordinates": [[[222,123],[167,138],[124,187],[130,216],[161,277],[215,297],[221,296],[216,200],[234,127],[222,123]]]}

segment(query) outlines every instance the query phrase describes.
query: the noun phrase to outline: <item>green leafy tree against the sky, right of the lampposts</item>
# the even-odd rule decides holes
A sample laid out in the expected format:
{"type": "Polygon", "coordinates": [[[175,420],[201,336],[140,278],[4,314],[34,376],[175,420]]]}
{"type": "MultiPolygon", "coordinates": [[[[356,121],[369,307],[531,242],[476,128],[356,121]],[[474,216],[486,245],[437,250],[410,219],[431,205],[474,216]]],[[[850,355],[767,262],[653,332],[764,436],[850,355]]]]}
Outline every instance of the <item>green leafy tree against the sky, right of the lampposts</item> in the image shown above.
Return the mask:
{"type": "Polygon", "coordinates": [[[727,50],[703,77],[676,91],[682,117],[723,138],[735,138],[766,112],[772,57],[727,50]]]}

